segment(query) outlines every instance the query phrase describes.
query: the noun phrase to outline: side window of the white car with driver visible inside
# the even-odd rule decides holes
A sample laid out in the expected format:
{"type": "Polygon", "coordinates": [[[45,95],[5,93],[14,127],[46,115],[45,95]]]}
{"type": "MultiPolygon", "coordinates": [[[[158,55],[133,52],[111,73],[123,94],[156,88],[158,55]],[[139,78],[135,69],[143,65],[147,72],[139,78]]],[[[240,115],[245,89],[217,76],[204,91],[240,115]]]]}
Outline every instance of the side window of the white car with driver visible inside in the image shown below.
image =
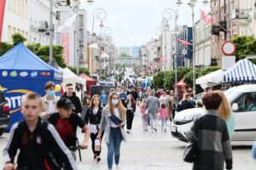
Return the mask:
{"type": "Polygon", "coordinates": [[[242,94],[234,103],[238,105],[238,111],[256,111],[256,93],[242,94]]]}

